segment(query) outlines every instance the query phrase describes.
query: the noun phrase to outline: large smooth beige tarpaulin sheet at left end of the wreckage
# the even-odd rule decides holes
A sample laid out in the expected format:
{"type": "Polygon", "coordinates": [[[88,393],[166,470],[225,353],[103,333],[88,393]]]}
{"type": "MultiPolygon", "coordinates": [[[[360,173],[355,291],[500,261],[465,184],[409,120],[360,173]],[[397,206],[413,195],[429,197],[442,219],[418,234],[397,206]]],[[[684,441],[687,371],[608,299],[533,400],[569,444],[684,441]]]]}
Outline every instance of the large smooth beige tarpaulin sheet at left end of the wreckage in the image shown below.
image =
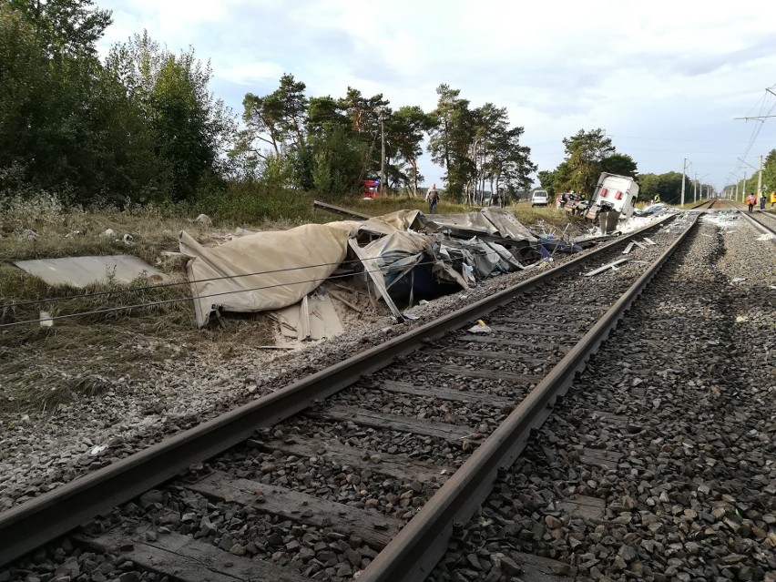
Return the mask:
{"type": "Polygon", "coordinates": [[[197,325],[220,308],[265,311],[300,301],[340,266],[351,233],[348,222],[305,224],[203,247],[181,232],[197,325]]]}

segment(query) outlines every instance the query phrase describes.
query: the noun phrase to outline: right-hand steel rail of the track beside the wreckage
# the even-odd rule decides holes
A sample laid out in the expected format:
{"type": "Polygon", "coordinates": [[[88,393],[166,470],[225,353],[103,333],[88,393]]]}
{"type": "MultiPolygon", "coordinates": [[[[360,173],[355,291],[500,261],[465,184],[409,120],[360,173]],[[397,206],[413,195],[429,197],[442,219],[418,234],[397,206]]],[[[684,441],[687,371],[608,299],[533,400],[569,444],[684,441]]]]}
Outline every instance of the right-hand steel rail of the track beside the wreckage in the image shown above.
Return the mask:
{"type": "Polygon", "coordinates": [[[545,422],[556,398],[567,392],[574,375],[585,368],[589,357],[597,352],[630,304],[695,227],[699,216],[375,556],[359,582],[422,582],[428,577],[444,556],[454,529],[468,521],[485,502],[498,471],[515,462],[531,431],[545,422]]]}

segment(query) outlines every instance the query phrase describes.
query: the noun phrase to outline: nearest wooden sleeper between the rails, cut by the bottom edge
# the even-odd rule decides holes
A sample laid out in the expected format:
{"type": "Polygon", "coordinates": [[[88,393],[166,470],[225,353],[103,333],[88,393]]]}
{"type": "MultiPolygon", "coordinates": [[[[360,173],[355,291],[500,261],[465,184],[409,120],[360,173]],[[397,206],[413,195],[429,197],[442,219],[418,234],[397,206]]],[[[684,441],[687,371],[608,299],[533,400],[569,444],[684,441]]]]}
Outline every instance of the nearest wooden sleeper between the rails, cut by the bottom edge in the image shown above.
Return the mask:
{"type": "Polygon", "coordinates": [[[258,558],[234,556],[212,544],[176,533],[158,534],[155,541],[148,541],[143,530],[121,532],[114,529],[97,538],[80,535],[78,541],[98,551],[122,556],[138,567],[183,582],[309,582],[311,579],[292,569],[278,567],[258,558]]]}

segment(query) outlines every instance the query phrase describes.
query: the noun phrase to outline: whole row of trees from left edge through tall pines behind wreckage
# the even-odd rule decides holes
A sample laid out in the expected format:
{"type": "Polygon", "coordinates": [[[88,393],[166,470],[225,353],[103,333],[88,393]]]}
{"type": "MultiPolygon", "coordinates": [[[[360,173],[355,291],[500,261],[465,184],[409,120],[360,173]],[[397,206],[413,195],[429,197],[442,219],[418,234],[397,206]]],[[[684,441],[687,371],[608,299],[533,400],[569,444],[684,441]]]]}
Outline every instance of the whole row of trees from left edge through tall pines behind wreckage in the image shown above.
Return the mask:
{"type": "Polygon", "coordinates": [[[446,85],[425,112],[353,87],[307,96],[284,75],[269,95],[245,96],[239,125],[193,48],[176,54],[144,32],[100,59],[111,22],[92,0],[0,4],[0,195],[176,203],[235,181],[342,194],[380,175],[383,139],[394,191],[417,194],[424,146],[453,198],[527,188],[536,169],[505,107],[472,107],[446,85]]]}

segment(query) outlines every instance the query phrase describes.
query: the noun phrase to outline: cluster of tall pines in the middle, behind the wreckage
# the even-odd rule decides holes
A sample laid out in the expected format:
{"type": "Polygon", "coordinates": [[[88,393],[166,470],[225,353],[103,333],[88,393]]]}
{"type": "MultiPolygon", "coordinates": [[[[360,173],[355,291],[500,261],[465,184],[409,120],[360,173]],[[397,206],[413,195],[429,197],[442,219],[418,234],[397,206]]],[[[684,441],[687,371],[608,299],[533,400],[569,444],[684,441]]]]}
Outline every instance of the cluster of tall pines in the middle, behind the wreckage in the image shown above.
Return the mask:
{"type": "Polygon", "coordinates": [[[444,170],[447,193],[481,201],[486,188],[516,191],[536,169],[520,144],[524,128],[511,127],[505,107],[471,107],[460,90],[437,87],[431,112],[420,106],[393,109],[383,94],[366,97],[348,87],[344,97],[306,97],[305,84],[281,77],[269,95],[243,100],[237,147],[244,178],[291,188],[352,191],[366,177],[381,175],[385,187],[417,195],[424,177],[418,158],[424,142],[444,170]]]}

